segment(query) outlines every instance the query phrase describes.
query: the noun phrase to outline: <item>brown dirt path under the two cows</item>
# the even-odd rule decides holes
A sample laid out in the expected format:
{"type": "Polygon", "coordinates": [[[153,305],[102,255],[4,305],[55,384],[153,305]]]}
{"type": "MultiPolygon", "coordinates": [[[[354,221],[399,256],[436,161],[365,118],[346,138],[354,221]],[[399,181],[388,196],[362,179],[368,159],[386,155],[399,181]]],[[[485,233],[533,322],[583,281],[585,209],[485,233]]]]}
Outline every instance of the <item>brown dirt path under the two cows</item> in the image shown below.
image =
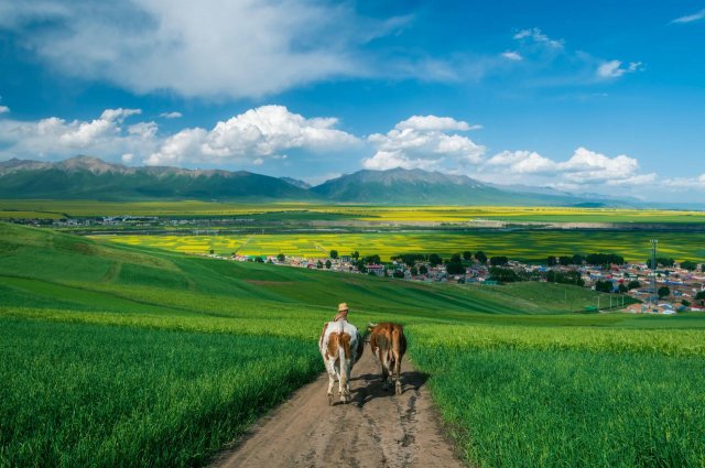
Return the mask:
{"type": "Polygon", "coordinates": [[[441,432],[426,378],[404,359],[402,395],[382,390],[378,364],[367,346],[352,369],[351,403],[328,406],[328,377],[321,376],[264,417],[214,466],[462,467],[441,432]]]}

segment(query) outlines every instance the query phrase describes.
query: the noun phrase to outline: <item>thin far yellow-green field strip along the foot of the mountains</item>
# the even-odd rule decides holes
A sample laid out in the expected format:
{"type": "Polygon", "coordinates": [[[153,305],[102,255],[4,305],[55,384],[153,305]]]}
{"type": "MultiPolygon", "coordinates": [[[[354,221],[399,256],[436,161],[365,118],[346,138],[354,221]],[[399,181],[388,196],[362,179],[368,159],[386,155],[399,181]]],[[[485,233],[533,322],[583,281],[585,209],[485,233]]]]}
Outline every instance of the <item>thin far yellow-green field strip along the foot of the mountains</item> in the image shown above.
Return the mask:
{"type": "Polygon", "coordinates": [[[354,219],[380,222],[467,222],[475,219],[534,222],[703,224],[705,211],[571,207],[319,205],[305,203],[235,204],[213,202],[0,200],[3,217],[160,216],[263,219],[354,219]],[[36,216],[34,216],[36,214],[36,216]],[[43,214],[43,215],[42,215],[43,214]]]}

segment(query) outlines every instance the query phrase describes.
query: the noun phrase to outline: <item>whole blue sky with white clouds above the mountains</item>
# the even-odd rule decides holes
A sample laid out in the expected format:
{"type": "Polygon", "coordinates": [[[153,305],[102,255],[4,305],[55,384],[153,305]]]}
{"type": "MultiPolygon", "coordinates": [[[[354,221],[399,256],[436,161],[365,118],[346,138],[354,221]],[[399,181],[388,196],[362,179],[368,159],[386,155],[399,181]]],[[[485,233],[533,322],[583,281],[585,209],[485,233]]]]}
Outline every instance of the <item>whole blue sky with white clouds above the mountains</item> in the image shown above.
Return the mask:
{"type": "Polygon", "coordinates": [[[705,0],[0,0],[0,161],[705,202],[705,0]]]}

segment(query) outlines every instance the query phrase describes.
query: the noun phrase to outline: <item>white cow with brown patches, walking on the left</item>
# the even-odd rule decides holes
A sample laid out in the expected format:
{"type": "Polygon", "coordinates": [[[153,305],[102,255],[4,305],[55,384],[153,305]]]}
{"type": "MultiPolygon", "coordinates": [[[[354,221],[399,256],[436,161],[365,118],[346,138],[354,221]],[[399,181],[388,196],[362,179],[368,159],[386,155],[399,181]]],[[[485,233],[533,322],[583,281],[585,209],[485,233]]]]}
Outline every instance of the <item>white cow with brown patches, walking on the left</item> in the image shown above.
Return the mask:
{"type": "Polygon", "coordinates": [[[333,405],[333,385],[339,382],[338,395],[343,403],[350,401],[350,372],[362,357],[365,341],[355,325],[347,320],[328,322],[323,326],[318,349],[328,371],[328,404],[333,405]]]}

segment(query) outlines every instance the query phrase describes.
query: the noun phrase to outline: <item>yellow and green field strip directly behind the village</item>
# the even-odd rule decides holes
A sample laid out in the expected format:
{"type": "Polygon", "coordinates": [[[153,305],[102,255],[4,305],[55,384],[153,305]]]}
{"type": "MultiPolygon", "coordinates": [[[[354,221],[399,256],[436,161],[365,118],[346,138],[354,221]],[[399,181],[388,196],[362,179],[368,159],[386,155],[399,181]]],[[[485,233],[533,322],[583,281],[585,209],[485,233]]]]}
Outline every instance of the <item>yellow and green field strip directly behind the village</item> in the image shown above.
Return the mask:
{"type": "Polygon", "coordinates": [[[449,257],[469,250],[514,260],[545,261],[547,255],[610,252],[628,261],[643,262],[650,254],[650,239],[658,238],[659,253],[682,260],[705,260],[705,233],[605,230],[511,230],[511,231],[397,231],[364,233],[278,233],[242,236],[100,236],[130,246],[155,247],[187,253],[230,255],[299,255],[325,258],[333,249],[340,254],[355,250],[383,260],[400,253],[438,253],[449,257]]]}

